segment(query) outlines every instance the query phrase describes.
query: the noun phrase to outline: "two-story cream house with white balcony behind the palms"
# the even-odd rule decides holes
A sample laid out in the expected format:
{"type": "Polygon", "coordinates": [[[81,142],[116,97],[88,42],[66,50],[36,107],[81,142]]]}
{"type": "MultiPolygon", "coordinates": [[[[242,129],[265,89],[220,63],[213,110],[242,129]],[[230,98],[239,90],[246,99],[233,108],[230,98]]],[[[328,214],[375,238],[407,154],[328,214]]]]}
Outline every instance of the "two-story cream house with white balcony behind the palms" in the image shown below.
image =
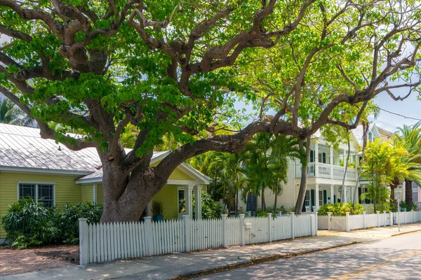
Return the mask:
{"type": "MultiPolygon", "coordinates": [[[[368,141],[382,138],[388,141],[392,132],[383,130],[377,125],[371,125],[368,132],[368,141]]],[[[353,200],[359,162],[361,160],[361,147],[363,145],[363,127],[359,125],[350,132],[350,152],[349,165],[345,176],[345,162],[347,161],[347,143],[340,144],[338,148],[333,148],[318,132],[314,134],[310,148],[310,160],[307,167],[307,190],[302,211],[313,211],[323,204],[333,204],[341,201],[342,181],[344,191],[344,202],[353,200]]],[[[301,180],[300,160],[289,160],[288,183],[283,186],[282,195],[278,196],[278,207],[295,207],[301,180]]],[[[366,192],[368,177],[363,176],[359,180],[359,188],[356,191],[356,199],[359,200],[361,193],[366,192]]],[[[267,207],[274,206],[275,195],[269,188],[265,190],[265,203],[267,207]]],[[[260,197],[252,198],[248,196],[247,203],[239,202],[239,207],[243,211],[250,211],[252,203],[253,209],[261,209],[260,197]]],[[[368,202],[362,202],[368,203],[368,202]]]]}

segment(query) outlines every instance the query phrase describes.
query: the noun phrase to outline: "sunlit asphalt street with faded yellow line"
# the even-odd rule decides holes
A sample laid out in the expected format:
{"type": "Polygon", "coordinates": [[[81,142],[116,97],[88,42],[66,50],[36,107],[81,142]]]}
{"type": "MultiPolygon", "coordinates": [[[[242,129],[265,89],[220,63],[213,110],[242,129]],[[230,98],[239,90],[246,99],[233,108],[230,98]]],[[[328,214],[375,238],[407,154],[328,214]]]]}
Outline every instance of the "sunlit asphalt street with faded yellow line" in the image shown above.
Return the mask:
{"type": "Polygon", "coordinates": [[[421,232],[265,262],[200,279],[421,279],[421,232]]]}

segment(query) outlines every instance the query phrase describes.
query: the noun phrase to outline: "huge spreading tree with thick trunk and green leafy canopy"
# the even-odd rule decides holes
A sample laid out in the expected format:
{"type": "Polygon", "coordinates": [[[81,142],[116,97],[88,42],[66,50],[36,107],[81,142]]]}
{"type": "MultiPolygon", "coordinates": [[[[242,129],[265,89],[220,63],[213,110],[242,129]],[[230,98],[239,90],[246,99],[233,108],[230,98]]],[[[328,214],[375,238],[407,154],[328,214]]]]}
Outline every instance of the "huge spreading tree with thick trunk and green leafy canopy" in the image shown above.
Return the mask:
{"type": "Polygon", "coordinates": [[[74,150],[95,147],[104,171],[102,221],[138,221],[175,167],[194,155],[236,153],[258,132],[308,139],[326,123],[352,129],[380,92],[403,99],[394,89],[420,83],[417,5],[0,0],[0,33],[8,38],[0,92],[36,118],[41,137],[74,150]],[[252,62],[274,64],[281,79],[273,85],[268,73],[276,72],[265,65],[254,67],[262,70],[256,76],[252,62]],[[274,90],[260,98],[265,85],[274,90]],[[238,116],[236,99],[261,113],[239,131],[215,135],[238,116]],[[49,122],[86,136],[72,139],[49,122]],[[128,125],[139,133],[126,153],[120,137],[128,125]],[[168,134],[185,145],[149,167],[168,134]]]}

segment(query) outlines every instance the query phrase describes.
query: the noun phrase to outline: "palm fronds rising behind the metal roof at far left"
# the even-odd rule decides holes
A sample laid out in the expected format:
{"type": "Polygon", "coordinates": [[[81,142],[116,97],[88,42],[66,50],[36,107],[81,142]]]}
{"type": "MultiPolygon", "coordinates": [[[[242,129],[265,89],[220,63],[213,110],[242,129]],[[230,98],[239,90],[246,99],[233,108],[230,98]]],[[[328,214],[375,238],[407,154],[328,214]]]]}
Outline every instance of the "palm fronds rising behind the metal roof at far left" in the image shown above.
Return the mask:
{"type": "Polygon", "coordinates": [[[27,116],[11,100],[4,98],[0,99],[0,123],[30,126],[34,123],[34,118],[27,116]]]}

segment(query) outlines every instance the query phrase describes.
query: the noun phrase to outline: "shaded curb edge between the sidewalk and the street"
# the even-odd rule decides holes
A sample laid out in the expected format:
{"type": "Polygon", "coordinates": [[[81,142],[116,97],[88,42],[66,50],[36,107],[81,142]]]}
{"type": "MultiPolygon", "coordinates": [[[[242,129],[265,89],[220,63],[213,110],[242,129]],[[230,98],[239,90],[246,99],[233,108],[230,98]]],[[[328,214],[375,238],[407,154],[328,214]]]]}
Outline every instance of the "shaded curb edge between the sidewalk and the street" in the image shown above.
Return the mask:
{"type": "Polygon", "coordinates": [[[233,270],[233,269],[250,267],[252,265],[259,265],[260,263],[263,263],[263,262],[272,262],[274,260],[279,260],[281,258],[293,258],[293,257],[296,257],[298,255],[307,255],[309,253],[316,253],[316,252],[326,251],[326,250],[333,249],[333,248],[340,248],[340,247],[345,247],[345,246],[360,244],[360,243],[363,243],[363,242],[362,241],[352,241],[352,242],[349,242],[347,244],[340,244],[340,245],[330,246],[330,247],[326,247],[326,248],[319,248],[319,249],[302,251],[302,252],[297,252],[297,253],[290,253],[290,254],[284,254],[284,255],[281,255],[281,254],[267,255],[265,257],[253,258],[253,260],[245,260],[243,262],[237,262],[234,265],[222,265],[220,267],[213,267],[213,268],[210,268],[210,269],[201,269],[201,270],[197,270],[196,272],[179,274],[177,276],[173,276],[171,278],[168,278],[168,280],[192,279],[192,278],[196,278],[196,277],[200,277],[200,276],[206,276],[206,275],[215,274],[215,273],[224,272],[224,271],[229,271],[229,270],[233,270]]]}

